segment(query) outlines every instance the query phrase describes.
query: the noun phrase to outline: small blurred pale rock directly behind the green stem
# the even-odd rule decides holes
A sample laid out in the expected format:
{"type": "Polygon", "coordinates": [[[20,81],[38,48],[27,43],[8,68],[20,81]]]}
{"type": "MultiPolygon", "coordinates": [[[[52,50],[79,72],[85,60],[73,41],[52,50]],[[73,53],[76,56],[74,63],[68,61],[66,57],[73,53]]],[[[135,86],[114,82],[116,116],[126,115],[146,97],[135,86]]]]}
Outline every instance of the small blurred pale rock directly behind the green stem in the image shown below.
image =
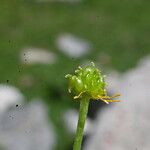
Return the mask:
{"type": "MultiPolygon", "coordinates": [[[[70,133],[75,133],[78,123],[78,112],[76,110],[68,110],[64,115],[66,127],[70,133]]],[[[85,122],[84,134],[89,134],[91,131],[92,121],[87,118],[85,122]]]]}

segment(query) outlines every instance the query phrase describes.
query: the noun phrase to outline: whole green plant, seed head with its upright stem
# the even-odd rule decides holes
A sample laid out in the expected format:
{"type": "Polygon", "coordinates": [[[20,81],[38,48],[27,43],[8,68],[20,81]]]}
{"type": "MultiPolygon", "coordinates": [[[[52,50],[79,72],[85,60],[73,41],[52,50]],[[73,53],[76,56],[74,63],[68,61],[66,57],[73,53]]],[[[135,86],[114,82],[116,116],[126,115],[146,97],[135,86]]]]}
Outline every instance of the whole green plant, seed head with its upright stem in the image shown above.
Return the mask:
{"type": "Polygon", "coordinates": [[[66,78],[69,79],[69,93],[73,94],[74,99],[78,99],[80,102],[79,120],[73,145],[73,150],[80,150],[90,99],[102,100],[109,104],[109,102],[119,102],[119,100],[112,100],[119,94],[111,97],[107,95],[104,76],[93,62],[85,68],[79,66],[74,75],[68,74],[66,78]]]}

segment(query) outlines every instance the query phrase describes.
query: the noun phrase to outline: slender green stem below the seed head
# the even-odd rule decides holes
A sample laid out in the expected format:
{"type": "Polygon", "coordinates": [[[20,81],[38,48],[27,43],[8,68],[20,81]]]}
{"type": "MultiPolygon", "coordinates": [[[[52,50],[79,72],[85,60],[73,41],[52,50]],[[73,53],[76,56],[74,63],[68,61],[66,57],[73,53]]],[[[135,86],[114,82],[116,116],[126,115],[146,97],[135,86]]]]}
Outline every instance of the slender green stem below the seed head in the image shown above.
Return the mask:
{"type": "Polygon", "coordinates": [[[80,100],[80,111],[79,111],[79,120],[78,120],[78,126],[77,131],[75,135],[73,150],[80,150],[81,149],[81,143],[83,138],[83,130],[84,130],[84,124],[88,112],[89,107],[89,98],[83,98],[80,100]]]}

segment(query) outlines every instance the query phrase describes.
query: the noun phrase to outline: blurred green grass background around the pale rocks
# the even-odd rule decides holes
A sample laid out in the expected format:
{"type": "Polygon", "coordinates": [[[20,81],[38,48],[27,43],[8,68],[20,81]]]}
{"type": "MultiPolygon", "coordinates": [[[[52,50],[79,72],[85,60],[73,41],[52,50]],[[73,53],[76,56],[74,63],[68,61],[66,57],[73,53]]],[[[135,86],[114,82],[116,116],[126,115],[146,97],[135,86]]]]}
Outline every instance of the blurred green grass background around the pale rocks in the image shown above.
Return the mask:
{"type": "Polygon", "coordinates": [[[45,100],[57,133],[56,150],[67,150],[73,140],[63,125],[62,113],[78,108],[67,93],[64,76],[87,60],[103,70],[124,72],[134,67],[150,52],[149,6],[148,0],[0,1],[0,82],[18,87],[28,101],[34,97],[45,100]],[[78,59],[68,57],[56,46],[61,33],[90,41],[92,50],[78,59]],[[48,49],[57,54],[58,61],[22,64],[19,57],[24,47],[48,49]],[[34,78],[30,86],[21,84],[24,75],[34,78]]]}

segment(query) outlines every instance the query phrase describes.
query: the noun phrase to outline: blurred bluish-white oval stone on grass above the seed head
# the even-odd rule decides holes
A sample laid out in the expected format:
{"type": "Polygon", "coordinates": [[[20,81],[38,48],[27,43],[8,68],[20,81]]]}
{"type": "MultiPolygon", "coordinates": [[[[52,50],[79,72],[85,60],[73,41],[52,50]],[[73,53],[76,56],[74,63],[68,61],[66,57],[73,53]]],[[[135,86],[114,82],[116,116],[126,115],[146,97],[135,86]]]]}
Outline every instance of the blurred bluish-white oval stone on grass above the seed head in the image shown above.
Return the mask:
{"type": "Polygon", "coordinates": [[[91,47],[89,42],[79,39],[71,34],[60,35],[56,41],[56,44],[60,51],[74,58],[79,58],[89,53],[91,47]]]}

